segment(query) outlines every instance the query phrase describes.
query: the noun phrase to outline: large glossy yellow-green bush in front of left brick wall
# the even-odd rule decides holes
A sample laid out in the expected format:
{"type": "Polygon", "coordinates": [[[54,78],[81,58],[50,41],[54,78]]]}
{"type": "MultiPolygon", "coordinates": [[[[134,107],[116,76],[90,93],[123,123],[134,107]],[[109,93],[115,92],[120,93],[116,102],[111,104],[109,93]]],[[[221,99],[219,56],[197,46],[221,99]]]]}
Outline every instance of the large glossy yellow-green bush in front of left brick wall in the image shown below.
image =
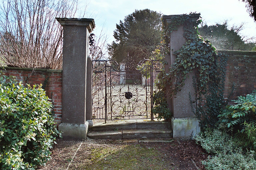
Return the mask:
{"type": "Polygon", "coordinates": [[[34,169],[50,159],[58,135],[44,90],[0,75],[0,168],[34,169]]]}

